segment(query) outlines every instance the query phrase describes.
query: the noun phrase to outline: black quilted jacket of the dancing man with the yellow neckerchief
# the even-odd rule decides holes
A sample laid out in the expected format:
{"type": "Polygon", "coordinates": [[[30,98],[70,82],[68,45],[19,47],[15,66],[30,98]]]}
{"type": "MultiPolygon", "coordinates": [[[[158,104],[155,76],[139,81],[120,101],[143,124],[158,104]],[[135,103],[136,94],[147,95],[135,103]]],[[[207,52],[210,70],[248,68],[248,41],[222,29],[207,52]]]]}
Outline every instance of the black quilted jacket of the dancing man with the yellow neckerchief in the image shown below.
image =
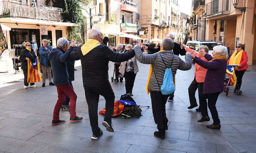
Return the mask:
{"type": "Polygon", "coordinates": [[[85,55],[81,47],[70,54],[72,60],[81,60],[83,87],[87,89],[104,89],[111,86],[108,77],[109,61],[123,62],[134,56],[134,50],[120,54],[103,45],[93,48],[85,55]]]}

